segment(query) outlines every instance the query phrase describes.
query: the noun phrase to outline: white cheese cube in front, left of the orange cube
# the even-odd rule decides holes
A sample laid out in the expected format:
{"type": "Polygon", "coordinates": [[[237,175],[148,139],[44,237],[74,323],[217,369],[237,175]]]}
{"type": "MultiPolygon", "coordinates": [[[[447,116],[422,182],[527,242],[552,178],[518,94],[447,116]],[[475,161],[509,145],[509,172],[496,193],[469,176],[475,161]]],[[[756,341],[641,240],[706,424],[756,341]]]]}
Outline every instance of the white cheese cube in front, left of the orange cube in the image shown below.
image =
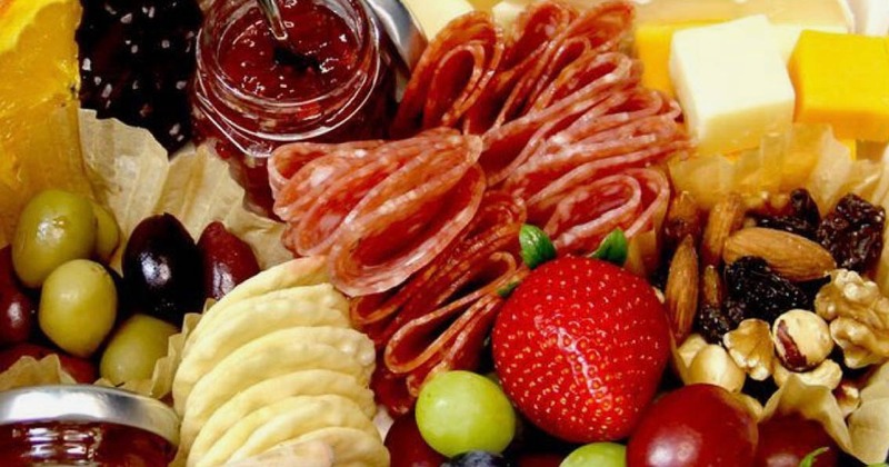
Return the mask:
{"type": "Polygon", "coordinates": [[[677,31],[670,78],[700,155],[756,148],[792,123],[793,87],[765,16],[677,31]]]}

